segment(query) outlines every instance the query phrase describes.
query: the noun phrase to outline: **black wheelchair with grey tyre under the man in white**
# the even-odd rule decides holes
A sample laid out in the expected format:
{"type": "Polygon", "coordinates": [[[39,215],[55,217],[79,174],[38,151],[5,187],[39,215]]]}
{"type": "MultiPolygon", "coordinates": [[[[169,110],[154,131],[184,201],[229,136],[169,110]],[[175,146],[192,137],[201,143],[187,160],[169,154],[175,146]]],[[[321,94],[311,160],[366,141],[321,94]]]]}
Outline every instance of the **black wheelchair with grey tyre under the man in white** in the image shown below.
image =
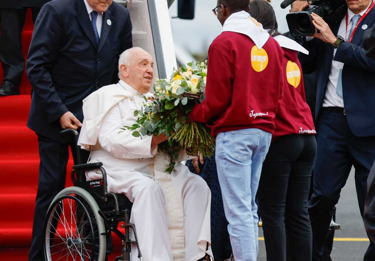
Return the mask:
{"type": "MultiPolygon", "coordinates": [[[[71,172],[71,180],[74,184],[74,187],[68,187],[68,188],[62,190],[60,193],[58,193],[57,196],[55,197],[55,199],[52,201],[52,203],[49,206],[49,209],[47,211],[47,216],[46,216],[44,226],[43,226],[43,232],[46,235],[46,240],[43,241],[45,260],[46,261],[50,260],[50,259],[48,259],[48,254],[47,254],[47,250],[46,250],[47,247],[49,247],[49,246],[46,246],[46,243],[49,242],[49,240],[53,241],[53,238],[48,237],[48,235],[51,236],[51,234],[49,234],[48,232],[52,233],[52,231],[51,230],[46,231],[46,228],[48,226],[48,222],[49,222],[49,225],[51,225],[52,216],[54,216],[56,213],[60,214],[58,211],[55,211],[54,214],[51,215],[52,212],[53,212],[52,210],[54,210],[58,204],[61,204],[61,201],[63,199],[73,198],[73,199],[75,199],[75,201],[78,202],[78,204],[81,204],[81,207],[84,208],[83,209],[84,213],[88,213],[88,211],[87,211],[87,209],[85,209],[85,206],[81,203],[81,201],[84,200],[87,203],[92,205],[91,210],[93,211],[93,214],[95,214],[95,218],[93,218],[93,220],[91,220],[91,217],[90,217],[90,219],[88,220],[88,222],[90,223],[90,226],[91,226],[91,231],[93,231],[92,221],[95,221],[96,225],[98,227],[99,227],[100,224],[104,223],[105,231],[102,232],[100,235],[107,236],[107,235],[111,235],[111,232],[114,232],[114,234],[116,234],[118,237],[121,238],[121,243],[124,245],[124,247],[122,248],[122,254],[120,256],[117,256],[114,259],[114,261],[120,261],[120,260],[130,261],[130,252],[131,252],[131,245],[132,244],[136,244],[137,249],[138,249],[138,258],[141,261],[143,261],[141,250],[139,249],[138,237],[137,237],[137,234],[136,234],[135,225],[130,223],[130,211],[131,211],[132,203],[123,194],[115,194],[115,193],[112,193],[112,192],[108,192],[108,190],[107,190],[107,173],[105,172],[105,169],[102,167],[103,163],[95,162],[95,163],[81,164],[82,163],[81,155],[80,155],[81,148],[80,148],[80,146],[77,145],[78,136],[79,136],[77,131],[75,131],[73,129],[68,129],[68,130],[63,130],[60,133],[62,134],[62,136],[65,136],[65,137],[68,137],[68,138],[71,138],[71,136],[74,136],[74,144],[75,144],[75,152],[76,152],[75,154],[76,155],[74,157],[75,165],[73,166],[73,170],[71,172]],[[86,173],[86,171],[92,171],[92,170],[99,170],[102,173],[102,177],[103,177],[102,180],[96,180],[96,181],[99,181],[99,184],[100,184],[100,181],[102,181],[102,186],[90,188],[90,186],[89,186],[90,182],[92,183],[92,182],[95,182],[95,181],[86,181],[86,174],[85,173],[86,173]],[[76,187],[80,188],[80,189],[74,189],[76,187]],[[76,194],[75,192],[78,192],[78,194],[76,194]],[[81,193],[79,193],[79,192],[81,192],[81,193]],[[78,195],[78,197],[77,196],[76,197],[71,196],[72,194],[78,195]],[[121,204],[120,204],[120,201],[119,201],[119,197],[121,199],[123,199],[123,202],[125,202],[125,204],[127,204],[124,209],[120,209],[121,204]],[[107,203],[109,201],[109,199],[113,200],[113,208],[111,208],[111,210],[102,209],[101,207],[103,206],[103,204],[107,203]],[[99,207],[98,202],[100,203],[100,207],[99,207]],[[97,215],[95,213],[95,211],[98,211],[99,215],[97,215]],[[100,219],[102,219],[102,220],[100,220],[100,219]],[[119,222],[123,222],[121,224],[121,228],[125,228],[124,234],[121,233],[117,229],[117,226],[118,226],[119,222]],[[133,230],[135,241],[130,240],[130,229],[133,230]]],[[[62,210],[61,206],[60,206],[60,210],[62,210]]],[[[73,210],[71,209],[71,211],[73,211],[73,210]]],[[[77,210],[76,210],[76,212],[77,212],[77,210]]],[[[87,214],[87,215],[89,216],[89,214],[87,214]]],[[[76,228],[78,230],[77,223],[76,223],[76,226],[77,226],[76,228]]],[[[56,231],[56,229],[53,228],[53,225],[52,225],[51,229],[56,231]]],[[[98,229],[98,231],[99,231],[99,229],[98,229]]],[[[70,242],[72,242],[75,239],[71,238],[69,240],[71,240],[70,242]]],[[[65,243],[69,244],[68,241],[65,242],[65,243]]],[[[82,241],[80,243],[82,244],[82,241]]],[[[93,243],[95,243],[95,239],[93,239],[93,243]]],[[[73,242],[71,244],[74,245],[75,243],[73,242]]],[[[99,248],[100,248],[100,245],[99,245],[99,248]]],[[[103,247],[103,248],[104,248],[104,250],[102,250],[102,251],[105,251],[105,247],[103,247]]],[[[207,243],[207,249],[208,249],[208,243],[207,243]]],[[[77,251],[78,251],[78,249],[77,249],[77,251]]],[[[99,252],[100,251],[101,250],[99,250],[99,252]]],[[[95,254],[96,253],[94,253],[94,252],[91,253],[91,257],[90,257],[91,261],[93,259],[95,259],[95,258],[93,258],[93,256],[95,256],[95,254]]],[[[98,260],[98,261],[104,261],[105,253],[101,253],[102,257],[100,256],[100,253],[98,254],[98,256],[99,256],[98,258],[101,258],[101,260],[98,260]]],[[[208,256],[208,255],[206,255],[206,256],[208,256]]],[[[213,258],[211,256],[209,256],[209,259],[210,259],[210,261],[213,261],[213,258]]],[[[82,256],[81,256],[81,260],[84,260],[84,259],[82,259],[82,256]]]]}

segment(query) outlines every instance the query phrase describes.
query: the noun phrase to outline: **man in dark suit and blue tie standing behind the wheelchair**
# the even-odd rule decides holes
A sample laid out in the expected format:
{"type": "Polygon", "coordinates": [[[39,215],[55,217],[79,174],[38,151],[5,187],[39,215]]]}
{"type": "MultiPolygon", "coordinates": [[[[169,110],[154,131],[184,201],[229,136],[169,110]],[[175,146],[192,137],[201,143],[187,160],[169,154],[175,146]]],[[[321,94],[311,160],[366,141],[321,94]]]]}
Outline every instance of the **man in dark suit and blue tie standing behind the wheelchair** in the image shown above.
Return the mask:
{"type": "Polygon", "coordinates": [[[38,136],[40,166],[29,260],[44,260],[43,221],[65,187],[69,142],[59,133],[81,126],[84,98],[117,82],[118,56],[132,47],[131,33],[129,11],[112,0],[52,0],[35,21],[26,66],[33,87],[27,126],[38,136]]]}

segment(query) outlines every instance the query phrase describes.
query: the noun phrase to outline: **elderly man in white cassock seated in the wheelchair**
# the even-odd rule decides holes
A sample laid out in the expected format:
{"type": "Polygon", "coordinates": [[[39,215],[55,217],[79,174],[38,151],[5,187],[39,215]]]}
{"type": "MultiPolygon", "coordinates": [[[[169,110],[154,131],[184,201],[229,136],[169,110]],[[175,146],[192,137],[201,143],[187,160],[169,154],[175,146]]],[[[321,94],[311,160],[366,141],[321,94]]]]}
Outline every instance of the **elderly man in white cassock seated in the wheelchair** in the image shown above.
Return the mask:
{"type": "MultiPolygon", "coordinates": [[[[153,59],[141,48],[120,55],[117,84],[104,86],[83,101],[84,122],[78,144],[91,150],[89,162],[102,162],[108,190],[124,193],[133,202],[130,222],[135,224],[145,261],[196,261],[211,255],[211,192],[201,177],[179,161],[166,173],[169,157],[157,145],[167,138],[133,137],[123,126],[136,122],[134,111],[153,97],[153,59]]],[[[101,179],[95,171],[88,180],[101,179]]],[[[132,261],[139,260],[135,246],[132,261]]]]}

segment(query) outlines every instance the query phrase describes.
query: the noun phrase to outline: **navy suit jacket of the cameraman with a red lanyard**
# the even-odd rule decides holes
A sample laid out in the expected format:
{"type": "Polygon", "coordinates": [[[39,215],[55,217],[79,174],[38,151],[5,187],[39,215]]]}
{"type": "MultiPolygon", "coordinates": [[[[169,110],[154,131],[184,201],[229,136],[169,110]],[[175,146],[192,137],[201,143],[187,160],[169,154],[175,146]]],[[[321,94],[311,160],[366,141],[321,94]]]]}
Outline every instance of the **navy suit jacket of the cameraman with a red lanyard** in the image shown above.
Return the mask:
{"type": "MultiPolygon", "coordinates": [[[[345,113],[350,130],[359,137],[375,136],[375,61],[366,57],[363,48],[362,25],[366,30],[375,23],[375,8],[359,24],[352,42],[342,42],[337,48],[335,60],[345,63],[342,71],[342,89],[345,113]]],[[[332,26],[337,35],[340,24],[332,26]]],[[[318,121],[326,94],[328,77],[331,71],[334,48],[319,39],[305,41],[303,46],[310,54],[300,54],[303,71],[317,71],[317,102],[315,119],[318,121]]]]}

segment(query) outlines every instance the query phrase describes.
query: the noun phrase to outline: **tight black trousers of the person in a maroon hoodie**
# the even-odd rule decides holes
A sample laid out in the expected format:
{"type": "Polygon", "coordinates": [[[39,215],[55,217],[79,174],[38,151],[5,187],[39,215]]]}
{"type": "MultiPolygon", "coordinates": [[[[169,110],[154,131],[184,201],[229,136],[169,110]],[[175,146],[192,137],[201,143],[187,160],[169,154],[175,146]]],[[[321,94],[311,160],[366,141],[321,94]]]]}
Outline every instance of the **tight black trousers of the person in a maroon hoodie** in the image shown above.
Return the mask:
{"type": "Polygon", "coordinates": [[[271,143],[258,189],[267,261],[286,261],[287,252],[291,261],[312,259],[307,202],[316,150],[314,135],[287,135],[271,143]]]}

